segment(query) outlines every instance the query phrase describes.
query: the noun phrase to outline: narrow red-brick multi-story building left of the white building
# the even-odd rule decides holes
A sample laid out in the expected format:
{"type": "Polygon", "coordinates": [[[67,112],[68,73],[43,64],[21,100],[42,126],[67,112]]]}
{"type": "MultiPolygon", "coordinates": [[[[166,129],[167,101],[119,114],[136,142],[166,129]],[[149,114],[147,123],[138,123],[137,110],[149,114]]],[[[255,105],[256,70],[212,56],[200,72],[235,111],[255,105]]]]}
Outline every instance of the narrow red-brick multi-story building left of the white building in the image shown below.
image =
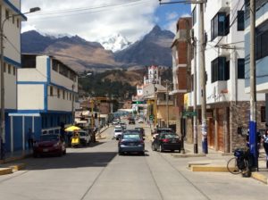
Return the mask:
{"type": "Polygon", "coordinates": [[[190,90],[191,86],[191,40],[190,29],[192,28],[191,18],[180,18],[176,24],[176,36],[172,43],[172,74],[173,90],[172,95],[175,99],[176,110],[176,131],[182,134],[185,128],[184,95],[190,90]]]}

